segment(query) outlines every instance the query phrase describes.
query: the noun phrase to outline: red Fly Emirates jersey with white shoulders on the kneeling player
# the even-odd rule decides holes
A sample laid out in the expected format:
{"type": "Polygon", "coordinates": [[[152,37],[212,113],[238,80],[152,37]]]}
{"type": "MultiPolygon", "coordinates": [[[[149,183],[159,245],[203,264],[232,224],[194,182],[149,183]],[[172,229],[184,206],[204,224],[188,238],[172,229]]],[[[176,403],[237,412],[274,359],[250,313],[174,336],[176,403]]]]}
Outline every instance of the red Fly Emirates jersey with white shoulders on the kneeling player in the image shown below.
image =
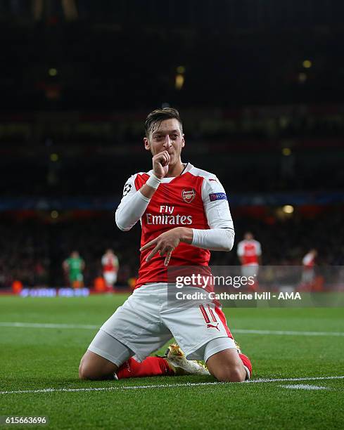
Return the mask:
{"type": "MultiPolygon", "coordinates": [[[[151,174],[153,170],[129,178],[118,209],[125,209],[130,204],[134,193],[151,174]]],[[[227,195],[215,175],[187,164],[181,175],[163,178],[141,216],[141,247],[175,227],[229,228],[234,234],[227,195]]],[[[151,261],[146,262],[151,250],[141,252],[136,288],[148,282],[167,282],[165,256],[155,254],[151,261]]],[[[169,266],[208,266],[209,259],[208,249],[180,243],[172,252],[169,266]]]]}

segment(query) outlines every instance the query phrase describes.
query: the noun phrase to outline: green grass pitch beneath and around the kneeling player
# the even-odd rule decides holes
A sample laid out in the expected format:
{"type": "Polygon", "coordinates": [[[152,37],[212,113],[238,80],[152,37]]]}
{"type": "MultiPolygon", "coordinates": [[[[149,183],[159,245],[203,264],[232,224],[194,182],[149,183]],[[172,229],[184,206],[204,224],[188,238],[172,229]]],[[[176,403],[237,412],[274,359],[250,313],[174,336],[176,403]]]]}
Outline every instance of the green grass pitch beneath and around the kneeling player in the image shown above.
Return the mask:
{"type": "Polygon", "coordinates": [[[0,415],[45,415],[51,429],[344,428],[344,379],[325,379],[344,376],[343,308],[224,309],[252,360],[253,382],[217,384],[212,377],[79,381],[79,360],[97,330],[60,325],[99,327],[124,300],[122,294],[0,297],[0,415]],[[10,325],[14,322],[38,325],[10,325]],[[275,380],[296,378],[304,379],[275,380]],[[54,390],[22,392],[42,389],[54,390]]]}

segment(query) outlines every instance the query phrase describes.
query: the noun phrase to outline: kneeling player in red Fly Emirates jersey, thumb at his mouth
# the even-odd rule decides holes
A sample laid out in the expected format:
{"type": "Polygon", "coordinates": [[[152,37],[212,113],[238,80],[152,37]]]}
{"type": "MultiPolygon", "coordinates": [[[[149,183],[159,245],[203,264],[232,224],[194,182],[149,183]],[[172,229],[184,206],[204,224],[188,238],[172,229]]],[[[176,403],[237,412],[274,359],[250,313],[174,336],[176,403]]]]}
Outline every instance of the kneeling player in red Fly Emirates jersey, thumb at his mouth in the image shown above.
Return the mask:
{"type": "Polygon", "coordinates": [[[139,279],[134,293],[94,337],[79,377],[173,374],[166,358],[146,357],[174,337],[186,357],[170,346],[167,359],[172,365],[204,372],[186,358],[204,359],[218,380],[242,382],[250,378],[250,360],[238,351],[219,303],[205,299],[192,307],[167,304],[167,265],[206,267],[210,249],[231,250],[234,227],[227,195],[214,174],[181,162],[185,141],[177,110],[151,112],[145,131],[153,169],[125,183],[115,217],[122,231],[141,221],[139,279]]]}

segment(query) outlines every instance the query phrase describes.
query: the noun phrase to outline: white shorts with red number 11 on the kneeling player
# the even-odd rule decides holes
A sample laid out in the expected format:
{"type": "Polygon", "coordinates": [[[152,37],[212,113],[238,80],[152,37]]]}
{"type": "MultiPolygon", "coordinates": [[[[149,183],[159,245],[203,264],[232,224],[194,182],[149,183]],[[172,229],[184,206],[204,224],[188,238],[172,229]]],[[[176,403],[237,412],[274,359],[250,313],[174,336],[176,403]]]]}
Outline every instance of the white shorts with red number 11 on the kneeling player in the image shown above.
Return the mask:
{"type": "Polygon", "coordinates": [[[213,353],[236,348],[220,306],[206,299],[193,307],[172,307],[167,304],[167,284],[157,283],[135,289],[102,325],[88,349],[120,365],[129,358],[124,351],[115,357],[120,344],[142,361],[172,337],[189,360],[206,360],[213,353]],[[222,341],[212,342],[206,351],[207,344],[219,338],[222,341]]]}

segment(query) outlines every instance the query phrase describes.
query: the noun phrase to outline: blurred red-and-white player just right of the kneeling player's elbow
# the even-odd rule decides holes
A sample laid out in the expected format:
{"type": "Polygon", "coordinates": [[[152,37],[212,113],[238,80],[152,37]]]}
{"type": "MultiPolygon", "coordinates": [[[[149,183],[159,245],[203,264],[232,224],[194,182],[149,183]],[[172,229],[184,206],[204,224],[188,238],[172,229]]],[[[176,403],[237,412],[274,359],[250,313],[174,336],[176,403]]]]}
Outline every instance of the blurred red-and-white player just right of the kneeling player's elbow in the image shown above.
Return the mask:
{"type": "Polygon", "coordinates": [[[243,240],[238,243],[236,253],[241,263],[241,275],[246,278],[249,276],[255,277],[255,283],[250,285],[248,289],[257,289],[257,275],[259,266],[262,264],[262,247],[260,242],[255,240],[253,234],[248,231],[243,236],[243,240]]]}

